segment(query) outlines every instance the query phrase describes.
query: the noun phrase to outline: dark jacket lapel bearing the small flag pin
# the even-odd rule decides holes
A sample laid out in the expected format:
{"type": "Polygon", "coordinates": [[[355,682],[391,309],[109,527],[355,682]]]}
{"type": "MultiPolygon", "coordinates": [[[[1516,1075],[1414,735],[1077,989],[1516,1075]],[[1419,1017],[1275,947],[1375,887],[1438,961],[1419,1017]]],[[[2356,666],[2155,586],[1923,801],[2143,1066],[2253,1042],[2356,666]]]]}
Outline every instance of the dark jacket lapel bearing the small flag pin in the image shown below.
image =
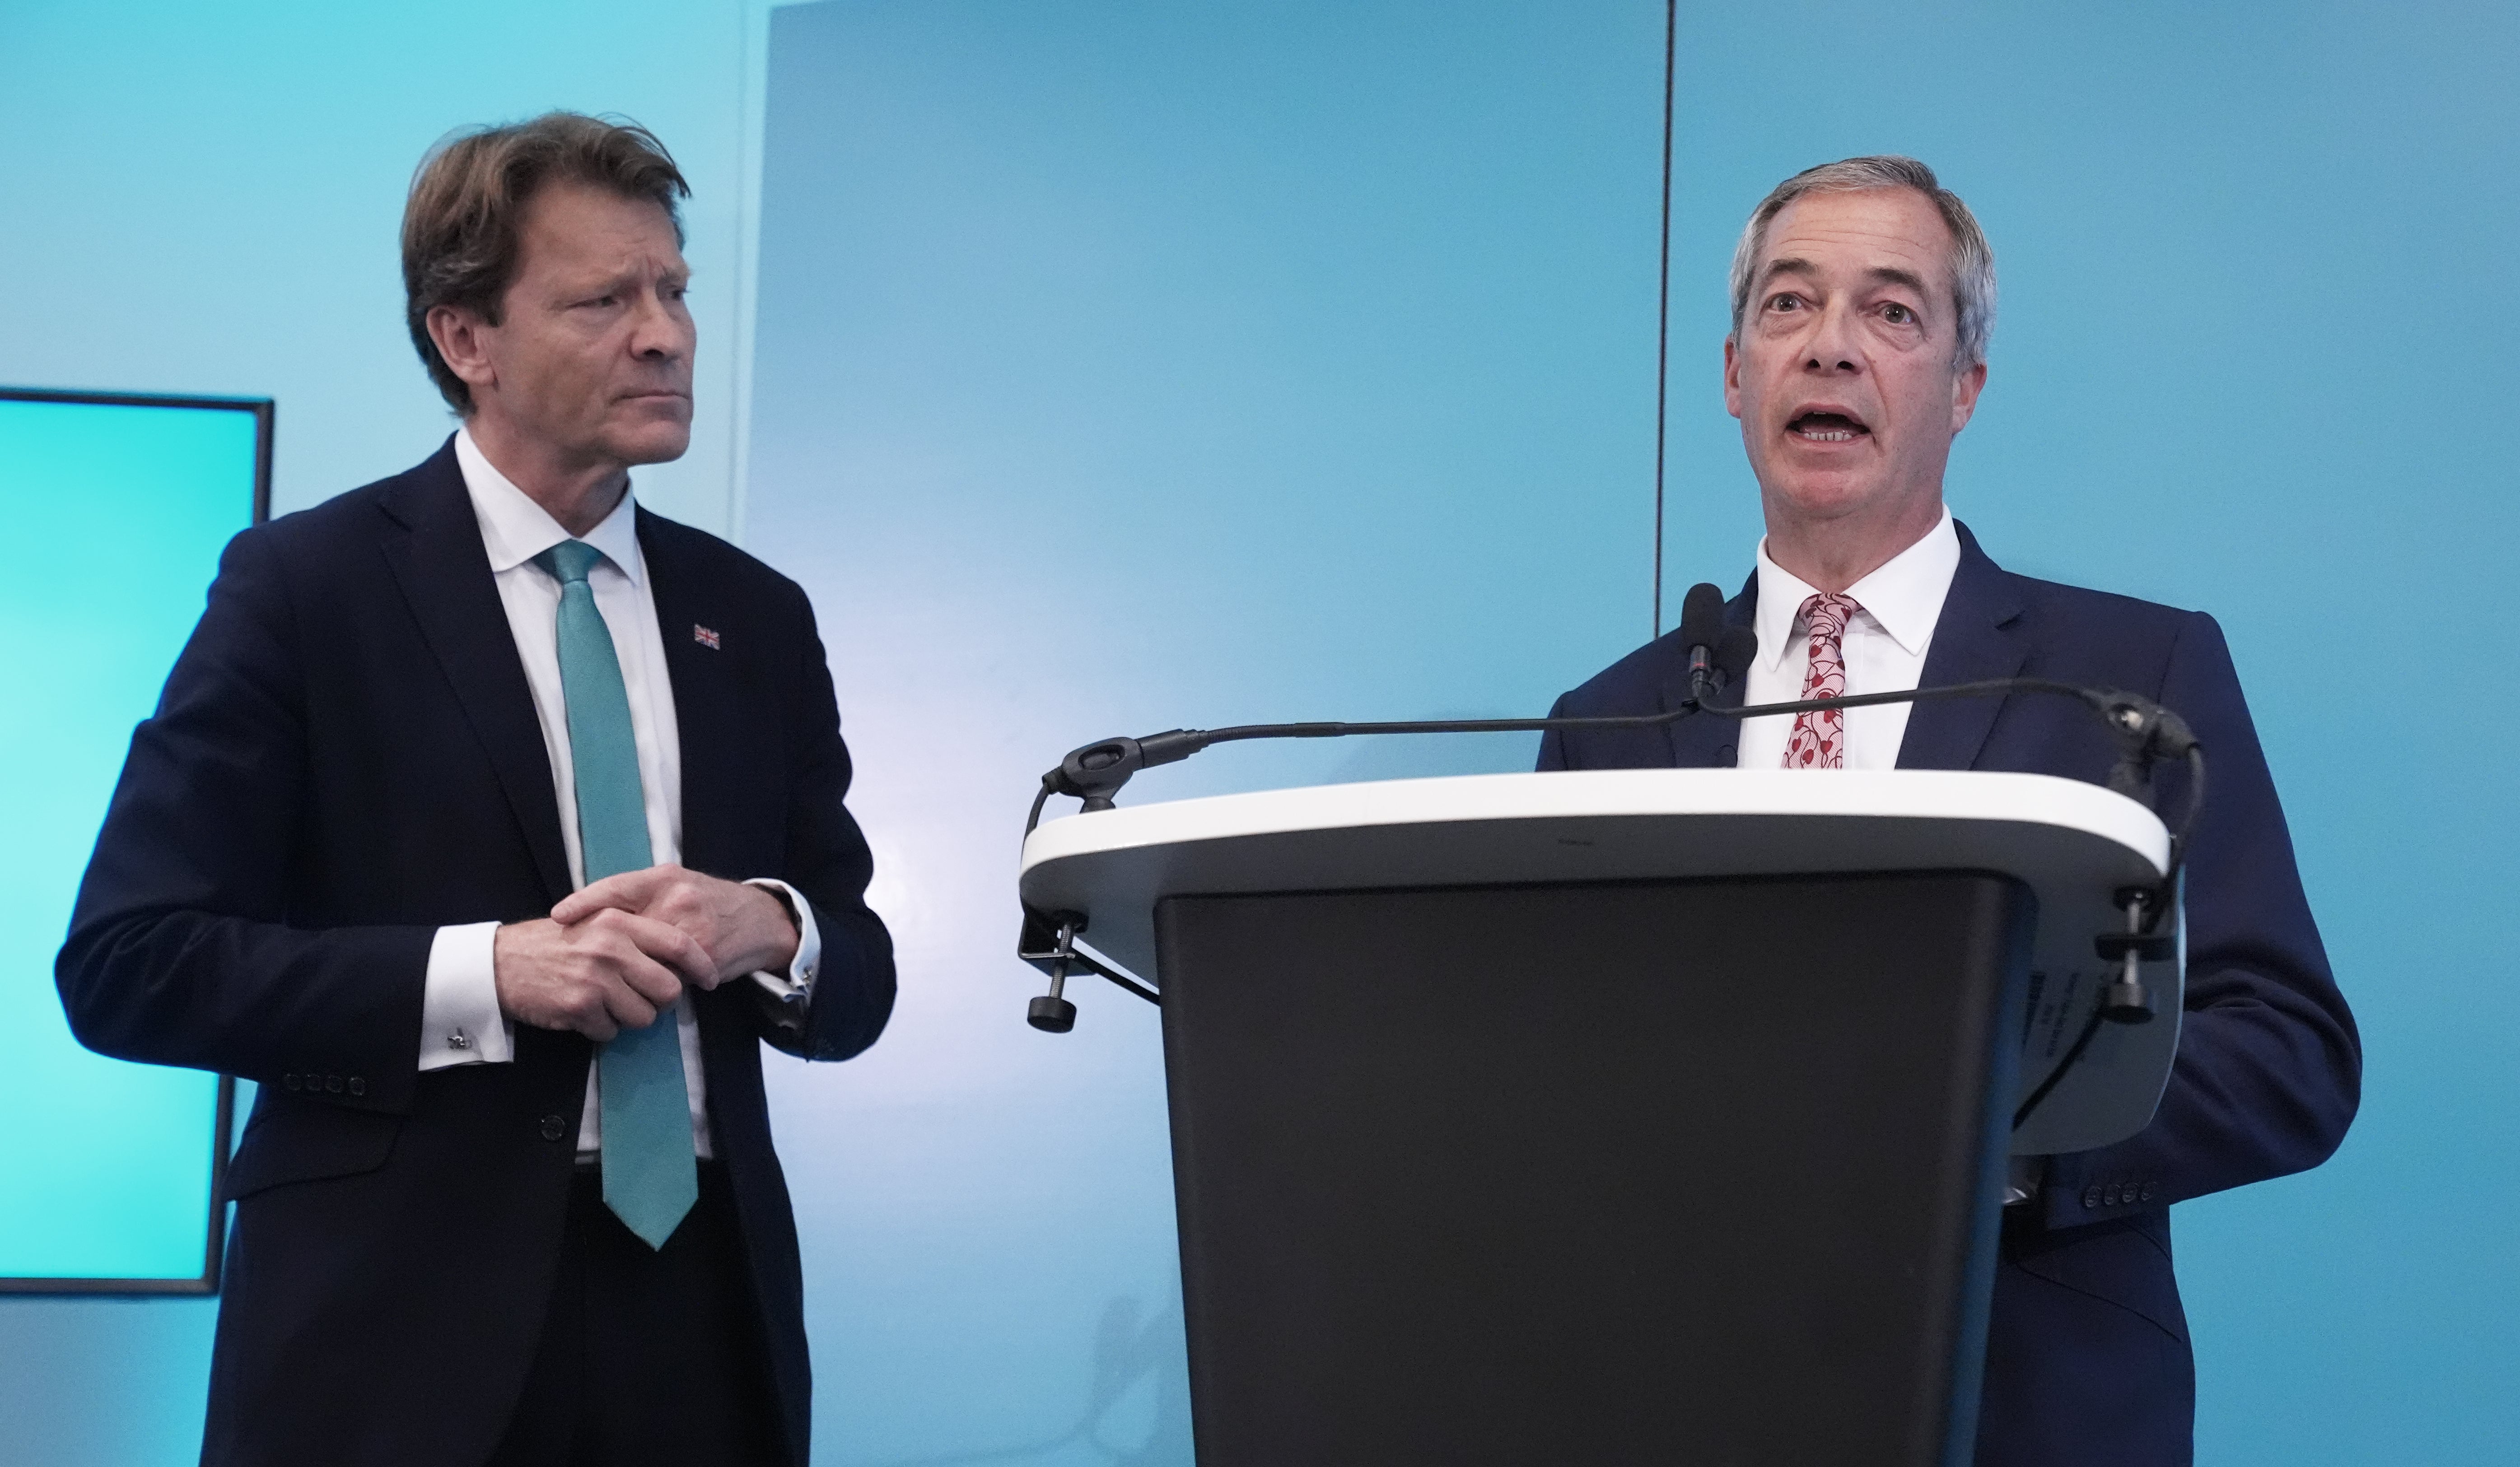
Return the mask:
{"type": "MultiPolygon", "coordinates": [[[[638,512],[638,544],[648,557],[648,592],[655,600],[655,625],[665,643],[665,676],[673,683],[673,723],[683,764],[683,865],[696,872],[728,872],[741,865],[728,812],[738,809],[736,779],[743,741],[728,721],[736,718],[738,678],[733,660],[703,638],[723,638],[733,618],[713,605],[708,577],[690,565],[683,537],[670,524],[638,512]]],[[[738,653],[741,655],[741,653],[738,653]]],[[[759,875],[759,872],[748,872],[759,875]]]]}

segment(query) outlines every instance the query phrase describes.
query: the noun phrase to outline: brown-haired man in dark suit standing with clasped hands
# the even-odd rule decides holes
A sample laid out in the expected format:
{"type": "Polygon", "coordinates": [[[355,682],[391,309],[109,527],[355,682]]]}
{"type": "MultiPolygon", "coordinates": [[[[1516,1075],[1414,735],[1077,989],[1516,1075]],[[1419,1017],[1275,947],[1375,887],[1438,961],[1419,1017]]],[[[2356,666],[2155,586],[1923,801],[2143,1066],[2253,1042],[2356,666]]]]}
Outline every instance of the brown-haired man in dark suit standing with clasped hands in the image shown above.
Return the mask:
{"type": "Polygon", "coordinates": [[[892,1011],[804,592],[658,519],[693,328],[643,129],[433,154],[411,333],[461,431],[239,534],[134,736],[58,983],[260,1084],[202,1457],[806,1459],[761,1041],[892,1011]]]}

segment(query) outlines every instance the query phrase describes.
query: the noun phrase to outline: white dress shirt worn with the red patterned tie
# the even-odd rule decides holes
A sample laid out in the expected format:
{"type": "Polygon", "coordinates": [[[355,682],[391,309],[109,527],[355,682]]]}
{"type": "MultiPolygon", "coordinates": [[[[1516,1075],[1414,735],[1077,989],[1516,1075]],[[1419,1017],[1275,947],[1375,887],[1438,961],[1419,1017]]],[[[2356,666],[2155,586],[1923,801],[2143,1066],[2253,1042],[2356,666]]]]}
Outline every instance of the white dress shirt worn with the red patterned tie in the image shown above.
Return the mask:
{"type": "MultiPolygon", "coordinates": [[[[1925,678],[1925,650],[1933,625],[1943,620],[1943,597],[1961,570],[1961,532],[1950,509],[1940,524],[1880,570],[1847,587],[1865,610],[1847,620],[1840,650],[1847,663],[1847,696],[1905,693],[1925,678]]],[[[1812,630],[1802,602],[1817,595],[1802,577],[1767,557],[1759,542],[1759,655],[1749,665],[1746,703],[1794,703],[1812,670],[1812,630]]],[[[1908,736],[1913,703],[1847,708],[1847,769],[1898,769],[1898,746],[1908,736]]],[[[1739,769],[1784,769],[1784,746],[1794,736],[1789,713],[1741,721],[1739,769]]]]}

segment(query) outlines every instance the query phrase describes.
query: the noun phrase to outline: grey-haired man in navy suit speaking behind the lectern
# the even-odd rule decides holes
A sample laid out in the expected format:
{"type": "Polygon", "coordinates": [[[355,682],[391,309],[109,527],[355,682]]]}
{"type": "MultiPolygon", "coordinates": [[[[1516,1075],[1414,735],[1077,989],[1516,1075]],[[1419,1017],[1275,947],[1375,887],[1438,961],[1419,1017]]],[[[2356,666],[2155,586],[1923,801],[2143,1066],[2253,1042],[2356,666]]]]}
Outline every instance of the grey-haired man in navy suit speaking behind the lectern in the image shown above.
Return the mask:
{"type": "MultiPolygon", "coordinates": [[[[1993,255],[1915,159],[1847,159],[1779,184],[1734,257],[1724,398],[1767,539],[1724,615],[1756,660],[1729,706],[1978,678],[2139,691],[2210,756],[2187,854],[2187,1011],[2152,1124],[2016,1165],[1978,1417],[1983,1467],[2157,1467],[2192,1457],[2195,1361],[2170,1205],[2316,1167],[2344,1139],[2361,1044],[2223,633],[2182,613],[2003,572],[1943,507],[1950,441],[1986,386],[1993,255]]],[[[1557,701],[1653,713],[1688,696],[1678,633],[1557,701]]],[[[2006,769],[2104,781],[2087,708],[2011,696],[1691,716],[1550,734],[1540,769],[2006,769]]],[[[1819,774],[1814,774],[1819,776],[1819,774]]],[[[2180,809],[2182,776],[2165,779],[2180,809]]]]}

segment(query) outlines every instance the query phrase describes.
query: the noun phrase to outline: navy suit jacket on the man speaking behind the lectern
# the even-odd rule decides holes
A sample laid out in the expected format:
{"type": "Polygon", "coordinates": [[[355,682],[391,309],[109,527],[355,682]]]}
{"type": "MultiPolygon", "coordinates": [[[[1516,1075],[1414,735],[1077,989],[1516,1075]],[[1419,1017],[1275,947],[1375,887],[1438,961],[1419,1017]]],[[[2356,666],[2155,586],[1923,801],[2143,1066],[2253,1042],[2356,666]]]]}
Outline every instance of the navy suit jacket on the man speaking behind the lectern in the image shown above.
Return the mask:
{"type": "MultiPolygon", "coordinates": [[[[1759,580],[1724,607],[1754,625],[1759,580]]],[[[2223,630],[2202,613],[2029,580],[1961,527],[1923,686],[2059,678],[2127,688],[2197,731],[2210,799],[2187,854],[2187,1013],[2152,1124],[2051,1157],[2006,1210],[1988,1321],[1981,1467],[2187,1462],[2195,1359],[2170,1273],[2170,1205],[2316,1167],[2361,1094],[2361,1041],[2301,895],[2293,839],[2223,630]]],[[[1557,701],[1552,716],[1653,713],[1688,696],[1671,633],[1557,701]]],[[[1729,703],[1741,703],[1731,688],[1729,703]]],[[[1547,734],[1540,769],[1731,766],[1739,723],[1547,734]]],[[[1900,769],[2008,769],[2104,781],[2114,749],[2069,698],[1918,703],[1900,769]]],[[[2185,774],[2162,779],[2182,809],[2185,774]]]]}

